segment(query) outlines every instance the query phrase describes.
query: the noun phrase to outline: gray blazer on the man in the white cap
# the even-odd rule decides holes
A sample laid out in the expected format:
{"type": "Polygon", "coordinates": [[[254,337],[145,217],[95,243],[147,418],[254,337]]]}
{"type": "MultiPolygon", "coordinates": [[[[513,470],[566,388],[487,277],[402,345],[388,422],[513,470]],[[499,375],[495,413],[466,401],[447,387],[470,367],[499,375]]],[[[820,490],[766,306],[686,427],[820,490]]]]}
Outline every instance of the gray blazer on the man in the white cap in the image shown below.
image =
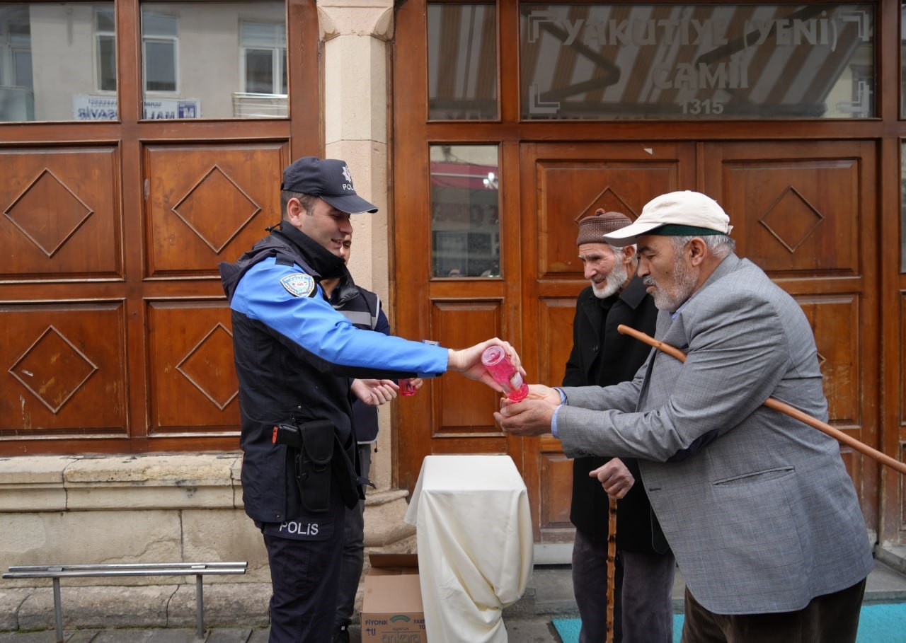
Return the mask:
{"type": "Polygon", "coordinates": [[[720,614],[802,609],[862,581],[872,552],[840,447],[762,406],[827,420],[814,335],[795,300],[730,254],[630,382],[566,388],[570,457],[640,458],[642,482],[696,600],[720,614]]]}

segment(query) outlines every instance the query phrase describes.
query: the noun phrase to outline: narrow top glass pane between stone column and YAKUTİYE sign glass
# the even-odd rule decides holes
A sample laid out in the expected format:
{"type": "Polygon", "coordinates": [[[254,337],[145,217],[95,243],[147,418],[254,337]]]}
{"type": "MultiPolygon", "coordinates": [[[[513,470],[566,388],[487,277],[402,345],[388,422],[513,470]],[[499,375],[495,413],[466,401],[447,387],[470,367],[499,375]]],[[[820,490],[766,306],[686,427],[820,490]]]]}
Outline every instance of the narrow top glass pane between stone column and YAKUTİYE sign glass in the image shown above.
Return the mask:
{"type": "Polygon", "coordinates": [[[430,120],[497,118],[494,4],[428,5],[430,120]]]}

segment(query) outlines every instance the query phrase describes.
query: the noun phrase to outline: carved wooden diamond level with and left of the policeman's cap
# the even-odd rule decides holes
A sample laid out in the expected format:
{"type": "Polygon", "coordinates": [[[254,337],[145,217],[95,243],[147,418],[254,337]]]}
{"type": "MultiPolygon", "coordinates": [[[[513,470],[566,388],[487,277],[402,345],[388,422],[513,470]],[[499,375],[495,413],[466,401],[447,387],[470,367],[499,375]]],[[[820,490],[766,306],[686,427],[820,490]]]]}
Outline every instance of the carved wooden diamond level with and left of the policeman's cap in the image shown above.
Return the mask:
{"type": "Polygon", "coordinates": [[[217,254],[260,211],[252,197],[217,165],[173,206],[176,216],[217,254]],[[212,212],[217,216],[211,216],[212,212]]]}

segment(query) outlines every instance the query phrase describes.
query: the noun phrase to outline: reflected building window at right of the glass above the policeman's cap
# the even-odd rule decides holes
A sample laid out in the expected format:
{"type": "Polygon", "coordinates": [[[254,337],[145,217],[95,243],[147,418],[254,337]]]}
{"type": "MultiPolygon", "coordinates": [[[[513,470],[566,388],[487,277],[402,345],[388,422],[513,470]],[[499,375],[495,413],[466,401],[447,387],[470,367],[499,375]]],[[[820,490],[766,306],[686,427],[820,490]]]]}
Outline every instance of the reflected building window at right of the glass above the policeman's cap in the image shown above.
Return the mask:
{"type": "Polygon", "coordinates": [[[243,91],[285,95],[285,25],[243,21],[239,36],[243,91]]]}

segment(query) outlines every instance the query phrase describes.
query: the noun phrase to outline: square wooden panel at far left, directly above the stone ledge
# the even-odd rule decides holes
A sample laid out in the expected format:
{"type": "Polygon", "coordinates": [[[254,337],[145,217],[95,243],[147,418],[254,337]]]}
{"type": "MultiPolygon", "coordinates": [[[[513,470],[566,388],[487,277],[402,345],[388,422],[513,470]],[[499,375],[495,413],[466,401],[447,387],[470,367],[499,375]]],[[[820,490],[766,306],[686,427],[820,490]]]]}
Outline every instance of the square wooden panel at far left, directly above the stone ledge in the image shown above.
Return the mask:
{"type": "Polygon", "coordinates": [[[0,304],[0,436],[128,432],[123,302],[0,304]]]}

